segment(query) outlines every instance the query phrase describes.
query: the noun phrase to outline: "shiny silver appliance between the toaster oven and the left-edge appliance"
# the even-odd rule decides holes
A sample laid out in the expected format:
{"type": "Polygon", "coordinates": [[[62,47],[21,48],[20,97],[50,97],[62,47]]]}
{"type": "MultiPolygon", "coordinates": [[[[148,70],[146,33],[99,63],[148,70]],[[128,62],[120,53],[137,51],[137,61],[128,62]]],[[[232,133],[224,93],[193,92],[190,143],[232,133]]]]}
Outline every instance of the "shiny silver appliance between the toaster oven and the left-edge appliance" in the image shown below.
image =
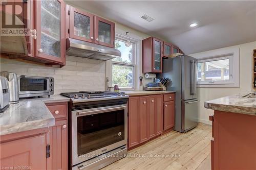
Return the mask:
{"type": "Polygon", "coordinates": [[[1,71],[0,75],[7,78],[9,85],[9,104],[18,103],[18,77],[13,72],[1,71]]]}

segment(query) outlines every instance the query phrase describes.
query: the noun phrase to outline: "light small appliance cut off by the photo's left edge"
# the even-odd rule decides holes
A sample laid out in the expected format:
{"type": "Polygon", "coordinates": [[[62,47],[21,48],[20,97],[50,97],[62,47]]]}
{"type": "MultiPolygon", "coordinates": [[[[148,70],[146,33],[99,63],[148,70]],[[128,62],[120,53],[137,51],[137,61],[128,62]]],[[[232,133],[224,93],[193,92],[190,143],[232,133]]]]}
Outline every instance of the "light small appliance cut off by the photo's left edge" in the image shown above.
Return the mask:
{"type": "Polygon", "coordinates": [[[0,112],[4,112],[9,107],[9,89],[7,78],[0,76],[0,112]]]}

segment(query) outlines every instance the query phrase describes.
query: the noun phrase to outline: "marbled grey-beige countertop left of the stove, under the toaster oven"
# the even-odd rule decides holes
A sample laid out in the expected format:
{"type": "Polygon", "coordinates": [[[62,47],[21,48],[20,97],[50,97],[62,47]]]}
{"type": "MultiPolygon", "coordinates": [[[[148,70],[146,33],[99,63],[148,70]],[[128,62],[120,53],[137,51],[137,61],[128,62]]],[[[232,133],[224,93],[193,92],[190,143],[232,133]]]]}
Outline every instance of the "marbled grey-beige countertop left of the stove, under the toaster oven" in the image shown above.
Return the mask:
{"type": "Polygon", "coordinates": [[[45,103],[69,102],[62,95],[51,95],[50,98],[22,99],[17,104],[0,113],[0,135],[45,128],[55,125],[55,118],[45,103]]]}

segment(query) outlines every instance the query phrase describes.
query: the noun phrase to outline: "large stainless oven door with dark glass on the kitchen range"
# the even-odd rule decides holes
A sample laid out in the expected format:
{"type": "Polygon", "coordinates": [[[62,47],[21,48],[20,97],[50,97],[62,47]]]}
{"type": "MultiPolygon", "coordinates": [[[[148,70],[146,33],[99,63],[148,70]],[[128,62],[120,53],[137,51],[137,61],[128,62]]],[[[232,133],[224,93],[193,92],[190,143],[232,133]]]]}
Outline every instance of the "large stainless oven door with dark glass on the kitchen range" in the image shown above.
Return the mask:
{"type": "Polygon", "coordinates": [[[127,105],[72,111],[72,166],[127,144],[127,105]]]}

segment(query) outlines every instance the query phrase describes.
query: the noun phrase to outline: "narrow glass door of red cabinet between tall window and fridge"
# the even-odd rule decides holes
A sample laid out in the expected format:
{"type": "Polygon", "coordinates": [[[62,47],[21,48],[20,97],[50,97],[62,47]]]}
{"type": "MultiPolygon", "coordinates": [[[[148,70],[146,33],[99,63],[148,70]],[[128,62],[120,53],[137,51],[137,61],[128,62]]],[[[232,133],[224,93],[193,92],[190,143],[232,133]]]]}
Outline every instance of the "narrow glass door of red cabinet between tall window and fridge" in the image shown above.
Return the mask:
{"type": "Polygon", "coordinates": [[[162,41],[154,38],[154,57],[153,57],[153,71],[154,72],[161,72],[162,71],[162,41]]]}

